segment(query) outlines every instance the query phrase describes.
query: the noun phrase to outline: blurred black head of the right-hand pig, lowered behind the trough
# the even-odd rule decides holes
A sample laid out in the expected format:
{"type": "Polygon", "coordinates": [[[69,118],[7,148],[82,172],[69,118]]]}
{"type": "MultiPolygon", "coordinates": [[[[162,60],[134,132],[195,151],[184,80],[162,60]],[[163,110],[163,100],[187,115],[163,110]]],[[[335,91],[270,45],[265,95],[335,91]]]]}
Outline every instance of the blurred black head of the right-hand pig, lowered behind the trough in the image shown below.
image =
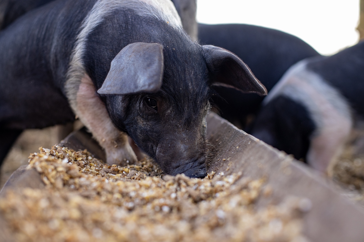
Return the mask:
{"type": "Polygon", "coordinates": [[[296,159],[306,159],[315,128],[302,103],[278,95],[261,109],[250,134],[296,159]]]}

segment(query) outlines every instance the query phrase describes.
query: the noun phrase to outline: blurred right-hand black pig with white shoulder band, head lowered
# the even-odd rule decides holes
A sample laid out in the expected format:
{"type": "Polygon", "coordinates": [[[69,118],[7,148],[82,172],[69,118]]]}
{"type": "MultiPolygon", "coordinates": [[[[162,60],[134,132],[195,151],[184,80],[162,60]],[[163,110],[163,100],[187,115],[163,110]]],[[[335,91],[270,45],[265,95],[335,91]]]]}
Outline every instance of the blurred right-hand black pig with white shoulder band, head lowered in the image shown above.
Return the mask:
{"type": "Polygon", "coordinates": [[[264,99],[252,135],[325,172],[364,114],[364,42],[292,66],[264,99]]]}

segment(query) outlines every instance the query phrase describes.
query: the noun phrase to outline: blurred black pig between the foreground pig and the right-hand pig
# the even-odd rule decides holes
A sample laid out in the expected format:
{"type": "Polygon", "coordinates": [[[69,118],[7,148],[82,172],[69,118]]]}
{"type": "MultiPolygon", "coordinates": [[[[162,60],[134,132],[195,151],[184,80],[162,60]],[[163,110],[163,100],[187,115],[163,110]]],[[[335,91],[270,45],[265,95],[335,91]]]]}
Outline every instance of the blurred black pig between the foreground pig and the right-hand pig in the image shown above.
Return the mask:
{"type": "MultiPolygon", "coordinates": [[[[198,24],[198,39],[201,44],[219,46],[236,54],[268,91],[290,66],[304,58],[320,56],[300,38],[248,24],[198,24]]],[[[263,97],[224,86],[214,89],[218,95],[214,95],[212,100],[219,114],[250,132],[247,117],[254,117],[258,113],[263,97]]]]}

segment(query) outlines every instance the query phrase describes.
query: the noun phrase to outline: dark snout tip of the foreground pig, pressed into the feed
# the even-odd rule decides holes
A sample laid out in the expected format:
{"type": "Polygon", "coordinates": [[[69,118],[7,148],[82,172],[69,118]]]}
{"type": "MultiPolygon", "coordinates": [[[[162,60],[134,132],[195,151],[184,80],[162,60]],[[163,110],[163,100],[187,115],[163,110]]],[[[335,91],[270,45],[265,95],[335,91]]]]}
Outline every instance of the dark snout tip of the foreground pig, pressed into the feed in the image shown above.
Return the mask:
{"type": "Polygon", "coordinates": [[[207,175],[205,157],[201,157],[195,161],[181,165],[175,168],[169,173],[169,175],[175,176],[177,174],[185,174],[191,178],[203,178],[207,175]]]}

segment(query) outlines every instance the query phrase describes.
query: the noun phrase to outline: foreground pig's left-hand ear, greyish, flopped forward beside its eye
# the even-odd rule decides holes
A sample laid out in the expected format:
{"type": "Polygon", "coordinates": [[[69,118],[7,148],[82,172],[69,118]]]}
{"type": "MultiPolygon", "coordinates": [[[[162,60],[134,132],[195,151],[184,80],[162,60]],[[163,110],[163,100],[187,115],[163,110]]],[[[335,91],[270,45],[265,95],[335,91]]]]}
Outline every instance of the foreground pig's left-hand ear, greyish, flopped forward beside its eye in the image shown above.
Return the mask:
{"type": "Polygon", "coordinates": [[[125,46],[111,61],[110,71],[97,91],[101,95],[155,93],[162,86],[163,46],[137,42],[125,46]]]}

